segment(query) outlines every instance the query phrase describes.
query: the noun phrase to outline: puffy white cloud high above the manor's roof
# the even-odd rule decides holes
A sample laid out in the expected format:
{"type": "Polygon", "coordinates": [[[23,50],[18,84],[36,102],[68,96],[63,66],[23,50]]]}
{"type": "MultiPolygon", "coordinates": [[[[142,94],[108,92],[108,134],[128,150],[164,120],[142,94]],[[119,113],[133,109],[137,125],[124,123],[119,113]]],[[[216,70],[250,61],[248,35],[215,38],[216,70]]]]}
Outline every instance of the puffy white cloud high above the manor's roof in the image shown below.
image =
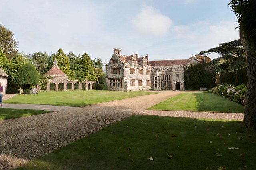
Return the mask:
{"type": "Polygon", "coordinates": [[[172,20],[151,6],[145,6],[132,19],[132,24],[141,33],[166,35],[172,26],[172,20]]]}

